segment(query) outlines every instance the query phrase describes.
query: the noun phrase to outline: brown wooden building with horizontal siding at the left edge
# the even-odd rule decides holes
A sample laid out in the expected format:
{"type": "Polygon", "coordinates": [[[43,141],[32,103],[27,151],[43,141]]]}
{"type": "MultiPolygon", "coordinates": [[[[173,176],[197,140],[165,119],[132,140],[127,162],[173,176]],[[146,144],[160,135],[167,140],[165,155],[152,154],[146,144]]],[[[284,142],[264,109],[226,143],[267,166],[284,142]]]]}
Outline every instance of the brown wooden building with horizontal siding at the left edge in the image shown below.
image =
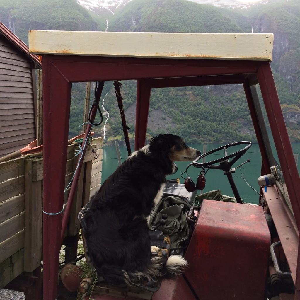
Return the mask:
{"type": "Polygon", "coordinates": [[[36,139],[35,70],[41,68],[38,56],[0,22],[0,157],[36,139]]]}

